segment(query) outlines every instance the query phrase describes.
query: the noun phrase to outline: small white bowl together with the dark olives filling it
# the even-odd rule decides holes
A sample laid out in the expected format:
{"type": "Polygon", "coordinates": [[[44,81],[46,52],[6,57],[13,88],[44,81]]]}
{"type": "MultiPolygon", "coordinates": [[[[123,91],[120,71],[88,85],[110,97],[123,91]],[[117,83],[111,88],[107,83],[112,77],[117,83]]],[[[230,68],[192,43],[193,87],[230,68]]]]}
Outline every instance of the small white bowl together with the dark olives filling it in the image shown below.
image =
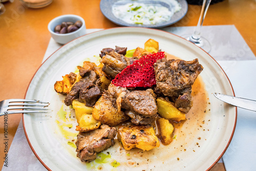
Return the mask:
{"type": "Polygon", "coordinates": [[[60,15],[51,20],[48,30],[56,42],[67,44],[67,42],[86,34],[86,24],[84,19],[78,15],[60,15]]]}

